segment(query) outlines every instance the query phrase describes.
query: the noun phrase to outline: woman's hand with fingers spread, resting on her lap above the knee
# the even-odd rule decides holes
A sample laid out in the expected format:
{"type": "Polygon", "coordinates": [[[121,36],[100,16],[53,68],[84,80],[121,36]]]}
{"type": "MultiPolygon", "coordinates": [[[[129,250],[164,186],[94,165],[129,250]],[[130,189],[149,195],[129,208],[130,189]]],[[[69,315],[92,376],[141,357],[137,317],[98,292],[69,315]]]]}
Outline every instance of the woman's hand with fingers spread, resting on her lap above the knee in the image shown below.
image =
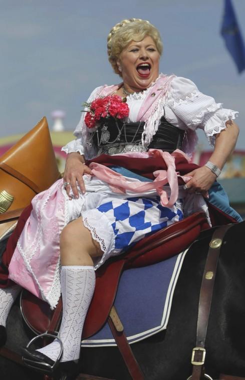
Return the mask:
{"type": "Polygon", "coordinates": [[[79,198],[78,185],[83,194],[86,191],[83,175],[91,174],[91,169],[85,165],[84,162],[84,156],[80,155],[80,153],[69,153],[67,156],[64,172],[64,183],[69,182],[69,185],[65,188],[69,199],[72,199],[70,195],[71,190],[75,198],[79,198]]]}

